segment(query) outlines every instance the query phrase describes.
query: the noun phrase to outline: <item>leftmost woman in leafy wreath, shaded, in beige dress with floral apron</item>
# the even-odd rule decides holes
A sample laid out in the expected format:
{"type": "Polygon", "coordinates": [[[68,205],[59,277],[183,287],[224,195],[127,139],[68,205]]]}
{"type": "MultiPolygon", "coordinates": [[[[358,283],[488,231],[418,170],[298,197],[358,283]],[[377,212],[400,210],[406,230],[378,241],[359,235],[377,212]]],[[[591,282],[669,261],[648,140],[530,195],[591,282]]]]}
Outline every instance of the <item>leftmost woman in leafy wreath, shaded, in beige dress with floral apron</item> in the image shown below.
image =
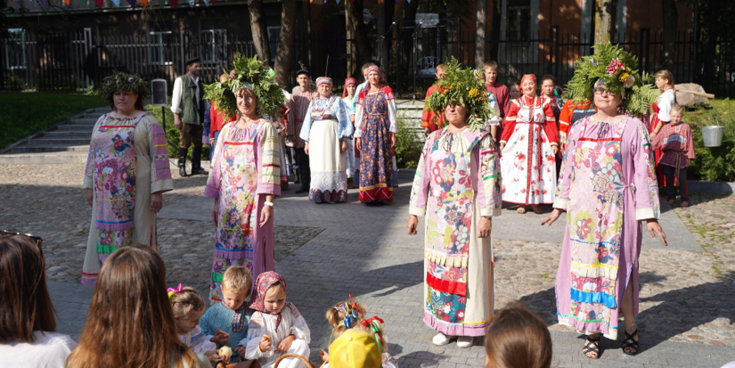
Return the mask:
{"type": "Polygon", "coordinates": [[[143,111],[148,82],[115,72],[102,80],[102,96],[112,112],[92,130],[84,186],[92,206],[82,283],[94,285],[102,263],[132,243],[157,247],[156,216],[163,192],[174,189],[168,168],[166,134],[143,111]]]}

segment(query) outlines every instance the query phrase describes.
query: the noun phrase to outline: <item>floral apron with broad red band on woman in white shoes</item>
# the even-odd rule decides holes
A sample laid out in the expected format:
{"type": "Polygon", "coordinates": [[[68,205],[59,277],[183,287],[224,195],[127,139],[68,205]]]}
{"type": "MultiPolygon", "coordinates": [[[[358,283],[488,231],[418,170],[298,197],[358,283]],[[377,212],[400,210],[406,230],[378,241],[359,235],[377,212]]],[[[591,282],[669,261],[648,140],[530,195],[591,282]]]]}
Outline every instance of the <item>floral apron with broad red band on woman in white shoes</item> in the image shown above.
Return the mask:
{"type": "Polygon", "coordinates": [[[445,323],[464,321],[475,201],[472,154],[475,145],[485,135],[487,132],[478,135],[470,149],[462,153],[439,150],[437,136],[429,153],[431,184],[425,249],[429,290],[426,311],[445,323]]]}

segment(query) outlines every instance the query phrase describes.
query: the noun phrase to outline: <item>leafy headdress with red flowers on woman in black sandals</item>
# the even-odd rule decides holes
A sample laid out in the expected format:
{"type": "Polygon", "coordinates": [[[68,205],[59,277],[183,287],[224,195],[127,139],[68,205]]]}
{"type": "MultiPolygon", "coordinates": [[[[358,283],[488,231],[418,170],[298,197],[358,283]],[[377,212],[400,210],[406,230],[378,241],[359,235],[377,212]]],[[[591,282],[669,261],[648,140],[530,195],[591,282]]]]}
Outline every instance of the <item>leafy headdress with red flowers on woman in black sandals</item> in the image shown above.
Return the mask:
{"type": "Polygon", "coordinates": [[[601,84],[623,96],[620,109],[631,115],[643,115],[656,102],[659,91],[650,84],[651,76],[638,72],[638,58],[610,42],[594,45],[595,54],[575,61],[575,75],[564,97],[575,102],[594,101],[594,87],[601,84]]]}

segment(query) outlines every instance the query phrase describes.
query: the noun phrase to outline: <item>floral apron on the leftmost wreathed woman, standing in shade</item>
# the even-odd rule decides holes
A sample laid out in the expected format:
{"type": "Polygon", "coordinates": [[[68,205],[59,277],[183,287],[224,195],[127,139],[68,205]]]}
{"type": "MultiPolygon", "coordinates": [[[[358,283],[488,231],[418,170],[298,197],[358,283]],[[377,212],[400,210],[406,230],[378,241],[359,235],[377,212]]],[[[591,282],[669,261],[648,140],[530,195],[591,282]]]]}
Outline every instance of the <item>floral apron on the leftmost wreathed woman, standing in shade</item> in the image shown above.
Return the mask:
{"type": "Polygon", "coordinates": [[[106,116],[92,138],[97,253],[100,264],[133,239],[135,215],[135,119],[106,116]]]}

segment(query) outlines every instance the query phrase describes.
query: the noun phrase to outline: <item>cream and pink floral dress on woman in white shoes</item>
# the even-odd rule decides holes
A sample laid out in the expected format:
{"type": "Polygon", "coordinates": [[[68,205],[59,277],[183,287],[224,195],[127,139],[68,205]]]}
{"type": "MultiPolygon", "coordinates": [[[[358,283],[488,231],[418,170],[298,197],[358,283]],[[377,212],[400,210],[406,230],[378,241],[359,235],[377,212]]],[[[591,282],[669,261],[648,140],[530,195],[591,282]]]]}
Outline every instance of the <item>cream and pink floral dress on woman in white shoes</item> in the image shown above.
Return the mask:
{"type": "Polygon", "coordinates": [[[426,216],[424,323],[451,336],[484,336],[494,317],[493,247],[482,217],[501,214],[493,137],[465,129],[427,139],[413,179],[410,214],[426,216]]]}

